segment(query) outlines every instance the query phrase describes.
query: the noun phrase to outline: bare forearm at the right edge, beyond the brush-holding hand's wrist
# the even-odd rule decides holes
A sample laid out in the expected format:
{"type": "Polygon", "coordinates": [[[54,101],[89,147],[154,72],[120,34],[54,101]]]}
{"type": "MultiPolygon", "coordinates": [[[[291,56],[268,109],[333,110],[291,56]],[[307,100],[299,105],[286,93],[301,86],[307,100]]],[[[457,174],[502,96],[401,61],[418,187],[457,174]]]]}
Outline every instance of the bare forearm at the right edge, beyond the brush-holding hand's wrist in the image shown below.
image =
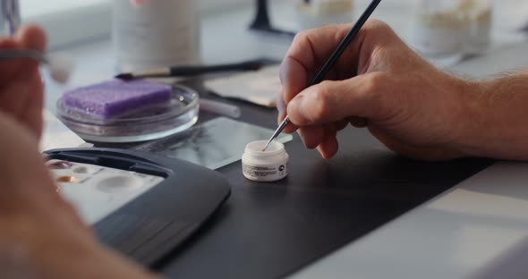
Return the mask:
{"type": "Polygon", "coordinates": [[[528,160],[528,72],[466,85],[464,154],[528,160]]]}

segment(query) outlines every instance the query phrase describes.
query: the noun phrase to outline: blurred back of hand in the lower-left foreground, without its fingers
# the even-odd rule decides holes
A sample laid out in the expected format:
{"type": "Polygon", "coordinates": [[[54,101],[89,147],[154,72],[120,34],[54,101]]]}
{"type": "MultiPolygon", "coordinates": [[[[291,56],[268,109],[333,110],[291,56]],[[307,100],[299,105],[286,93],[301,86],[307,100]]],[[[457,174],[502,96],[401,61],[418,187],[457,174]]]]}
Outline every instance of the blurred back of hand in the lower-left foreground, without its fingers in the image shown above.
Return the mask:
{"type": "Polygon", "coordinates": [[[0,131],[0,278],[154,277],[98,243],[57,194],[28,129],[0,112],[0,131]]]}

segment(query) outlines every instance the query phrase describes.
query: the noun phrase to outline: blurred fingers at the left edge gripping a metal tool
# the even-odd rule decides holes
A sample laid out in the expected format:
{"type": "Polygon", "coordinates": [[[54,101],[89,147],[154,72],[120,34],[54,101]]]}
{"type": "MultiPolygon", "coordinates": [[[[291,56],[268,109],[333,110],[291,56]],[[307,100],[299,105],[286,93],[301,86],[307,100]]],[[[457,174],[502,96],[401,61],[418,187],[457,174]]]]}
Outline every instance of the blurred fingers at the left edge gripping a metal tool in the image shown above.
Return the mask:
{"type": "MultiPolygon", "coordinates": [[[[1,49],[44,51],[46,36],[37,26],[21,28],[13,38],[1,38],[1,49]]],[[[43,85],[38,62],[16,58],[0,62],[0,111],[12,116],[37,139],[42,132],[43,85]]]]}

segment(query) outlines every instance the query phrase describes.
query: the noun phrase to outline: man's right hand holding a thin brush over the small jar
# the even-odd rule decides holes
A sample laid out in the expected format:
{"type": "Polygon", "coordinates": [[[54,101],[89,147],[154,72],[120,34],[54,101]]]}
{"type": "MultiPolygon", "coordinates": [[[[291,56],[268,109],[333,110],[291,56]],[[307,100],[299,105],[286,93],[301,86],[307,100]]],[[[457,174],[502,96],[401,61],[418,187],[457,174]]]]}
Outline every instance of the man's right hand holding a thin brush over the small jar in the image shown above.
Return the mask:
{"type": "Polygon", "coordinates": [[[327,79],[305,89],[349,30],[333,25],[300,33],[285,55],[278,97],[279,122],[287,114],[307,148],[329,158],[336,133],[348,123],[370,132],[397,153],[439,160],[464,154],[464,103],[470,86],[416,55],[385,23],[368,21],[327,79]]]}

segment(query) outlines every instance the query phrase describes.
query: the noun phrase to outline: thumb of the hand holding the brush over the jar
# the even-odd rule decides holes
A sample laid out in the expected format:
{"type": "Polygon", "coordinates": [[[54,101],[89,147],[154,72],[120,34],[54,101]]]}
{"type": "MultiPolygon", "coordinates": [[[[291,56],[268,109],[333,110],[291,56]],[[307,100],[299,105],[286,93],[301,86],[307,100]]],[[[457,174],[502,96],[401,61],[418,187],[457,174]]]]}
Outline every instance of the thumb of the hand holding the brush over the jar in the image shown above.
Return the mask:
{"type": "Polygon", "coordinates": [[[288,116],[298,126],[332,123],[350,116],[376,118],[390,96],[390,81],[383,72],[372,72],[349,80],[325,80],[304,89],[287,106],[288,116]]]}

